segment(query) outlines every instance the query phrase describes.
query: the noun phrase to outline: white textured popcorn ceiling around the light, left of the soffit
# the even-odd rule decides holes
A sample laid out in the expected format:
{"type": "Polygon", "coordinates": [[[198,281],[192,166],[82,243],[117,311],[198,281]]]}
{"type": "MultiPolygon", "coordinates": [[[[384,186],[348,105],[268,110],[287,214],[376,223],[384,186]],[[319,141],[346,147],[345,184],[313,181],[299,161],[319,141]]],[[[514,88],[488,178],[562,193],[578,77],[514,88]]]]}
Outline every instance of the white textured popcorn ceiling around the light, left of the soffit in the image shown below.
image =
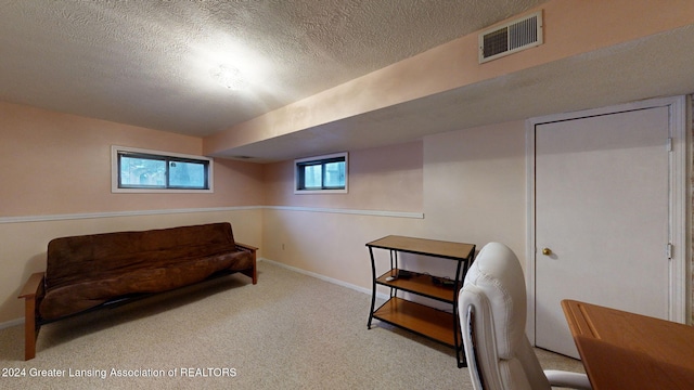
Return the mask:
{"type": "Polygon", "coordinates": [[[0,100],[209,135],[542,2],[0,0],[0,100]]]}

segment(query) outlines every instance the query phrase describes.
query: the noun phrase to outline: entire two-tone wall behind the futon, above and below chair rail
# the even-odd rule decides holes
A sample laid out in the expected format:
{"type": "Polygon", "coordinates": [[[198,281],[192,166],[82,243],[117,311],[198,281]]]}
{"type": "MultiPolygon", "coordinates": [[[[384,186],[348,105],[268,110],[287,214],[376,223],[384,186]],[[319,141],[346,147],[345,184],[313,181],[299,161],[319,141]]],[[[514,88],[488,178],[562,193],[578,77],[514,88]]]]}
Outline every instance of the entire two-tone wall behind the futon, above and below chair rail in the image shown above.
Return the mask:
{"type": "Polygon", "coordinates": [[[216,160],[214,194],[112,194],[112,144],[202,153],[198,138],[0,102],[0,324],[23,315],[16,297],[55,237],[230,221],[262,247],[262,166],[216,160]]]}

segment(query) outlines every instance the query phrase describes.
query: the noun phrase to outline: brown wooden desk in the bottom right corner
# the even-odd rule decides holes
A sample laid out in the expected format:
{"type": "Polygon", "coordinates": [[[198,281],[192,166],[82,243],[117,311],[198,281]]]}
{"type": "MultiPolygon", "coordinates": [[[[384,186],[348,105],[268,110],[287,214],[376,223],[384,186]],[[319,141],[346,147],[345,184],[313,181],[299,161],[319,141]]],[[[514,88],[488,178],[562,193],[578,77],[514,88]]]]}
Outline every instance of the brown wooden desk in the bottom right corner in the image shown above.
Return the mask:
{"type": "Polygon", "coordinates": [[[562,301],[594,390],[694,389],[694,327],[562,301]]]}

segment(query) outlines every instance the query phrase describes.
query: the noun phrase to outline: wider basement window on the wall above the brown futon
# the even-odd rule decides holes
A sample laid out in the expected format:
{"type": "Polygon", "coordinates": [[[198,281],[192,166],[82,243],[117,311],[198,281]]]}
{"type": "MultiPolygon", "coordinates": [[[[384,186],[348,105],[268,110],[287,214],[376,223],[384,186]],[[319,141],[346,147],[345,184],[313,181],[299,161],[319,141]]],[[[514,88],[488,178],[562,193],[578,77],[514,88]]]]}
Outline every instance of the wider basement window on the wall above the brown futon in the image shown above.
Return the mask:
{"type": "Polygon", "coordinates": [[[211,193],[213,159],[132,147],[111,148],[113,193],[211,193]]]}

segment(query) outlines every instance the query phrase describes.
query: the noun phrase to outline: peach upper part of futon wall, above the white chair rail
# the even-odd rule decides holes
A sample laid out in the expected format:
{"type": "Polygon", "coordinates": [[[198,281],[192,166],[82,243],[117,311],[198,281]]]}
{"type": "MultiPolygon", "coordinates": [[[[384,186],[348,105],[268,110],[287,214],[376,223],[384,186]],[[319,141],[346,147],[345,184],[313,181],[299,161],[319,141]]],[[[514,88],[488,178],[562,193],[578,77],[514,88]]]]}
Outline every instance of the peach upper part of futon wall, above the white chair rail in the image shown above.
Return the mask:
{"type": "Polygon", "coordinates": [[[0,218],[258,205],[262,167],[215,161],[214,194],[112,194],[111,145],[202,154],[200,138],[0,102],[0,218]]]}

